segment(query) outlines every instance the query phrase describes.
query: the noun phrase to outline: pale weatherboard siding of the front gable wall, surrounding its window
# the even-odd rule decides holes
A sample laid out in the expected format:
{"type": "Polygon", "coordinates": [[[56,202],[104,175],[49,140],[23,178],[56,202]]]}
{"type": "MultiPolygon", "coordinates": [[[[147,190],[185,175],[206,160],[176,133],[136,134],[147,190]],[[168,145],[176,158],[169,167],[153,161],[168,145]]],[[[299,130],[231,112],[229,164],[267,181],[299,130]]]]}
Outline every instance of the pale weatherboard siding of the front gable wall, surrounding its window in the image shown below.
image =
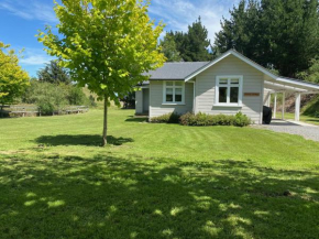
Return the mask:
{"type": "MultiPolygon", "coordinates": [[[[261,122],[261,111],[263,105],[264,74],[235,56],[228,56],[216,65],[206,69],[196,77],[196,110],[210,115],[235,115],[239,111],[245,113],[255,123],[261,122]],[[243,100],[242,107],[216,107],[216,77],[223,75],[243,76],[243,100]],[[245,97],[245,93],[258,93],[258,97],[245,97]]],[[[189,96],[187,96],[189,97],[189,96]]]]}

